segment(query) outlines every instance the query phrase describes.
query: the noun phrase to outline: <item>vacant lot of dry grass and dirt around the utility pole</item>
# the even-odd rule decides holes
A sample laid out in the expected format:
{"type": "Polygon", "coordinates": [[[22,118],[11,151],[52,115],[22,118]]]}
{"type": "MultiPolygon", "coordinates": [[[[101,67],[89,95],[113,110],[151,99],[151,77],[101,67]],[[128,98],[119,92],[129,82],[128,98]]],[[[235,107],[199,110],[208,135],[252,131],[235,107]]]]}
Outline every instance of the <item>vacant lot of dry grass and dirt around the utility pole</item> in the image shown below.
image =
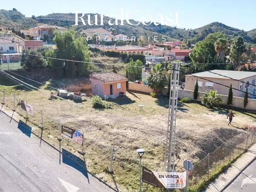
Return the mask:
{"type": "MultiPolygon", "coordinates": [[[[57,83],[52,80],[52,84],[57,83]]],[[[138,189],[139,160],[135,152],[137,148],[146,150],[143,156],[145,166],[152,170],[163,170],[169,99],[154,99],[142,93],[128,91],[124,99],[111,101],[116,103],[112,109],[95,110],[90,98],[81,103],[72,100],[51,100],[49,93],[55,90],[34,83],[33,85],[39,86],[42,90],[23,90],[10,81],[0,79],[0,92],[6,92],[7,107],[12,109],[15,93],[18,100],[24,99],[34,107],[35,115],[29,116],[29,122],[34,125],[41,124],[43,110],[42,137],[56,147],[58,120],[61,125],[83,132],[86,165],[89,171],[114,186],[111,176],[107,173],[110,167],[111,146],[114,146],[116,157],[113,160],[114,177],[122,191],[138,189]],[[144,105],[144,111],[140,111],[138,105],[144,105]]],[[[19,106],[16,108],[18,114],[26,115],[19,106]]],[[[176,151],[181,160],[177,163],[177,170],[183,169],[184,159],[197,162],[207,153],[214,151],[222,142],[244,131],[242,128],[245,124],[255,125],[255,113],[237,109],[233,111],[233,125],[228,126],[227,109],[210,109],[199,103],[178,104],[176,151]],[[196,137],[214,141],[215,144],[197,140],[196,137]]],[[[40,129],[35,128],[33,131],[41,135],[40,129]]],[[[78,144],[64,138],[62,147],[79,156],[77,151],[81,146],[78,144]]]]}

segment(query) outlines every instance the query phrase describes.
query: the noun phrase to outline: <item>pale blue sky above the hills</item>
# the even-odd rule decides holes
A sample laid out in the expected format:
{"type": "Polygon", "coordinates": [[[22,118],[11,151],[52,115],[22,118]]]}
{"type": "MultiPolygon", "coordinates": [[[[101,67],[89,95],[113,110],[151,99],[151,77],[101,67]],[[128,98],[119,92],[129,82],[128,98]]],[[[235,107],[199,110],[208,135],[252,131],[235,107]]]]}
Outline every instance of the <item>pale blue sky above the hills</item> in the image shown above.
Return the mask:
{"type": "Polygon", "coordinates": [[[47,15],[50,13],[84,13],[115,14],[120,17],[120,9],[129,18],[148,21],[160,21],[159,14],[173,20],[164,21],[171,26],[195,29],[218,21],[228,26],[249,31],[256,28],[255,0],[12,0],[1,3],[0,9],[16,8],[27,17],[47,15]],[[209,3],[211,2],[211,3],[209,3]],[[135,12],[136,11],[136,12],[135,12]],[[178,16],[175,16],[178,15],[178,16]],[[178,18],[176,20],[176,18],[178,18]],[[178,22],[177,22],[178,21],[178,22]]]}

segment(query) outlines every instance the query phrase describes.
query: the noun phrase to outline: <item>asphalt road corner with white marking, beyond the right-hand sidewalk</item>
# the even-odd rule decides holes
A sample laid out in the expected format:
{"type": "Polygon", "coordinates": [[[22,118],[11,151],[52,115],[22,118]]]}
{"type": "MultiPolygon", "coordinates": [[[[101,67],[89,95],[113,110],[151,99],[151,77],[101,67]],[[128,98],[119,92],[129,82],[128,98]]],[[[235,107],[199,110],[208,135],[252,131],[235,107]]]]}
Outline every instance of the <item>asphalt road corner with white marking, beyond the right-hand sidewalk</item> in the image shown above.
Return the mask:
{"type": "Polygon", "coordinates": [[[256,192],[256,160],[254,160],[224,192],[256,192]]]}

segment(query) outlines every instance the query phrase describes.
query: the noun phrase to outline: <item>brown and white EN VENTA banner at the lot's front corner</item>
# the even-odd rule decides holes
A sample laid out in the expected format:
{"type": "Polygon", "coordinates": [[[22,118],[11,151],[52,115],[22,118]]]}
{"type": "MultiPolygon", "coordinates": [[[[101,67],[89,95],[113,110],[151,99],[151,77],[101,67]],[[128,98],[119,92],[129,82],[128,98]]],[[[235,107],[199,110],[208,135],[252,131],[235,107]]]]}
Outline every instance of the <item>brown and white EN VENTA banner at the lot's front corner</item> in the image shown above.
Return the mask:
{"type": "Polygon", "coordinates": [[[186,186],[186,172],[152,172],[143,167],[142,180],[158,188],[182,189],[186,186]]]}

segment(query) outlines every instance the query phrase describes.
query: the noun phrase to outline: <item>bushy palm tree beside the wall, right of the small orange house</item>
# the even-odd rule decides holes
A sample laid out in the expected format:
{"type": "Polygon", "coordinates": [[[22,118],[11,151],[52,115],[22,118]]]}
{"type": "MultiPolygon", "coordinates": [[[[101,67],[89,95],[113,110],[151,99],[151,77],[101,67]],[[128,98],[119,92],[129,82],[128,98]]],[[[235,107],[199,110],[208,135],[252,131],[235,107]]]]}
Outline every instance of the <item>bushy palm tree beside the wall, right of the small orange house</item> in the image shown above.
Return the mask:
{"type": "Polygon", "coordinates": [[[153,89],[153,92],[159,95],[163,87],[166,85],[166,75],[163,73],[162,64],[156,64],[147,78],[148,86],[153,89]]]}

